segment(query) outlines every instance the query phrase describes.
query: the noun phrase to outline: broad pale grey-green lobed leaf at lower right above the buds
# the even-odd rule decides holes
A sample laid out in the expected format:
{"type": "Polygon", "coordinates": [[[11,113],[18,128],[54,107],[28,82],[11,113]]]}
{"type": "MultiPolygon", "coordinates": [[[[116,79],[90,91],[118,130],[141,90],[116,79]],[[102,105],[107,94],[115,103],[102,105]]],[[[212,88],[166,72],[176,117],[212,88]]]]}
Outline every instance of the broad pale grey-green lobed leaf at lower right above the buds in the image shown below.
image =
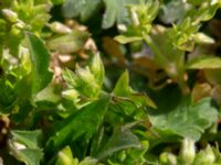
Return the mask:
{"type": "Polygon", "coordinates": [[[169,112],[150,114],[152,125],[160,131],[171,131],[173,134],[198,141],[206,129],[218,120],[218,110],[210,98],[204,98],[193,105],[189,99],[182,101],[169,112]]]}

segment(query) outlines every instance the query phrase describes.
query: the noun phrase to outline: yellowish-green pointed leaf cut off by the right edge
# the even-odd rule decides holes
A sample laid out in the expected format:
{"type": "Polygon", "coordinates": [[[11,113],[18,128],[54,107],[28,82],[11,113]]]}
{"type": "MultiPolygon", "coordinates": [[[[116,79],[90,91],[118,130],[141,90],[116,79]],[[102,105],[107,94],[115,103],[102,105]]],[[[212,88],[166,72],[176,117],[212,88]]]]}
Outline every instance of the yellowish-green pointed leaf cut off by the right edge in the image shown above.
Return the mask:
{"type": "Polygon", "coordinates": [[[187,69],[215,69],[221,68],[221,58],[214,56],[199,56],[188,62],[187,69]]]}

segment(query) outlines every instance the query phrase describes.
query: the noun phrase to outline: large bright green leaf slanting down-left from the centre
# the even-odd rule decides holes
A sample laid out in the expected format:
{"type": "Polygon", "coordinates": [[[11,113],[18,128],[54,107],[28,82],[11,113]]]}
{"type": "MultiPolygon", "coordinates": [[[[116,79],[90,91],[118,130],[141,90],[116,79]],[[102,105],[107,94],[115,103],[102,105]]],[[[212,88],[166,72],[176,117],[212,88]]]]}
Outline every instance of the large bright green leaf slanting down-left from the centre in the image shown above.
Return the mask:
{"type": "Polygon", "coordinates": [[[48,151],[55,152],[82,135],[90,139],[103,121],[108,103],[109,96],[105,96],[63,120],[55,134],[48,141],[48,151]]]}

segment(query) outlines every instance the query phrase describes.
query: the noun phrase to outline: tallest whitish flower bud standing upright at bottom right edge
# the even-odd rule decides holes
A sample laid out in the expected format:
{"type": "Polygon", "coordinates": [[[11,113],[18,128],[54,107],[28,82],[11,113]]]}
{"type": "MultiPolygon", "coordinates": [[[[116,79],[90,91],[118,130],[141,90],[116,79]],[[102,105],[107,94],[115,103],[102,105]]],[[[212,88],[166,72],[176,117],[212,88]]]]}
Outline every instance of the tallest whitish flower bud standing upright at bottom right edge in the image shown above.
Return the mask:
{"type": "Polygon", "coordinates": [[[194,161],[194,156],[196,156],[194,141],[190,139],[185,139],[182,141],[182,148],[181,148],[180,154],[181,154],[182,161],[187,165],[190,165],[194,161]]]}

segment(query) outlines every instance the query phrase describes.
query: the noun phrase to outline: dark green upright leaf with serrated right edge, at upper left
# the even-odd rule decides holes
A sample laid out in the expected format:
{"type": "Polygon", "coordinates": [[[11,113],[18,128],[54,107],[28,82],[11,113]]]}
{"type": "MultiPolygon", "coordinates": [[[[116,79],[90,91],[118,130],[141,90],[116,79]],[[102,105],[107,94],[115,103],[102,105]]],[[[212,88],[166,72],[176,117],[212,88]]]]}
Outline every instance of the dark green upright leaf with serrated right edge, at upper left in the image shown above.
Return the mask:
{"type": "Polygon", "coordinates": [[[27,41],[32,61],[32,94],[34,95],[52,80],[52,73],[49,72],[50,54],[43,42],[34,34],[27,33],[27,41]]]}

